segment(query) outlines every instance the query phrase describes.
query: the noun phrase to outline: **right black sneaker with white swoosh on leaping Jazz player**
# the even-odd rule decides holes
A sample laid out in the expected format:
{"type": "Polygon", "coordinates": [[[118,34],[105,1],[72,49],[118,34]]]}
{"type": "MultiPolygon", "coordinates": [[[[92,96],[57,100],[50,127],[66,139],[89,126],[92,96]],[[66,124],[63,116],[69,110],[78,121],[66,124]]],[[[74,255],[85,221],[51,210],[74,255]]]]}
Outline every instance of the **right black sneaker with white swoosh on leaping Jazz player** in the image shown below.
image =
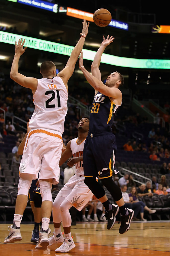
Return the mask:
{"type": "Polygon", "coordinates": [[[133,215],[134,215],[134,210],[132,209],[128,209],[128,215],[121,215],[121,225],[120,225],[120,228],[119,228],[119,233],[120,234],[124,234],[126,233],[129,228],[130,228],[130,222],[133,218],[133,215]]]}

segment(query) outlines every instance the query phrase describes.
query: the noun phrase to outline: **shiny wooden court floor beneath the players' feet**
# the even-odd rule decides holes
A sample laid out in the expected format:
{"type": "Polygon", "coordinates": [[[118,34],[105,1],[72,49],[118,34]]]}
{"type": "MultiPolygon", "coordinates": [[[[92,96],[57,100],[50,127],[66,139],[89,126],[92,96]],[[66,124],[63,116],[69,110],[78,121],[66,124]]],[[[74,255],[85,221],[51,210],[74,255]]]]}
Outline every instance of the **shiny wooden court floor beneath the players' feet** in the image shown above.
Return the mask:
{"type": "MultiPolygon", "coordinates": [[[[130,229],[125,234],[119,234],[120,224],[115,223],[107,230],[107,223],[77,222],[71,226],[76,247],[68,253],[55,253],[60,244],[53,244],[47,250],[36,250],[30,242],[33,224],[21,224],[22,241],[4,244],[10,224],[0,224],[0,254],[2,256],[170,256],[170,221],[131,222],[130,229]]],[[[54,231],[53,224],[49,225],[50,235],[54,231]]]]}

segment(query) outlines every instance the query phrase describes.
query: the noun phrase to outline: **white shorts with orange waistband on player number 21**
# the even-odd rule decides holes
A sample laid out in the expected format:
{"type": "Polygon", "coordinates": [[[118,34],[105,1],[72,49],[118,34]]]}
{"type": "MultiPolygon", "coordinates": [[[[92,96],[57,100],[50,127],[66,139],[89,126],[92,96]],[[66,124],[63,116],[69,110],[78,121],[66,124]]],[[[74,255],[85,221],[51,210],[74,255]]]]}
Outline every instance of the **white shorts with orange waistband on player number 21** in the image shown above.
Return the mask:
{"type": "MultiPolygon", "coordinates": [[[[54,131],[53,131],[54,132],[54,131]]],[[[41,129],[31,130],[27,136],[19,167],[21,173],[34,174],[34,179],[53,179],[58,184],[60,178],[59,160],[62,152],[60,134],[41,129]]]]}

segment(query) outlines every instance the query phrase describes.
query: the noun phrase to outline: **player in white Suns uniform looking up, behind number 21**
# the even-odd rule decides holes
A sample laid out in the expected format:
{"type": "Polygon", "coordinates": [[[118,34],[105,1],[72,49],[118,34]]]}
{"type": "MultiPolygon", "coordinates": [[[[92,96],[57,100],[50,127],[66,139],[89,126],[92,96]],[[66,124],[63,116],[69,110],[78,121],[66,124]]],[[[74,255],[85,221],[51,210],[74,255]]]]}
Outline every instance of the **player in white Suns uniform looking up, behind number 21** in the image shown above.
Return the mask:
{"type": "Polygon", "coordinates": [[[59,165],[69,159],[68,165],[75,165],[75,175],[62,187],[53,202],[53,236],[49,237],[49,246],[53,243],[62,243],[55,252],[68,252],[75,247],[71,237],[71,216],[69,209],[74,206],[81,211],[93,196],[92,192],[84,183],[83,172],[83,147],[89,130],[89,119],[82,118],[78,124],[78,138],[69,141],[66,150],[61,155],[59,165]],[[64,229],[64,239],[61,232],[61,221],[64,229]]]}

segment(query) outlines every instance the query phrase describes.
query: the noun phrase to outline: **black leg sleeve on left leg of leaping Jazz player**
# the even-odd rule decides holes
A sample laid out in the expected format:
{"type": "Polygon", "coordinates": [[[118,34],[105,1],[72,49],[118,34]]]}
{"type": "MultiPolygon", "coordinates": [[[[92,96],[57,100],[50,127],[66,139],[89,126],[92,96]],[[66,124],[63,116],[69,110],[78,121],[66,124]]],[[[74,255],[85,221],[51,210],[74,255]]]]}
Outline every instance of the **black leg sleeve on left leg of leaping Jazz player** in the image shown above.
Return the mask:
{"type": "Polygon", "coordinates": [[[100,186],[96,178],[84,177],[84,183],[97,198],[101,198],[106,194],[104,188],[100,186]]]}

